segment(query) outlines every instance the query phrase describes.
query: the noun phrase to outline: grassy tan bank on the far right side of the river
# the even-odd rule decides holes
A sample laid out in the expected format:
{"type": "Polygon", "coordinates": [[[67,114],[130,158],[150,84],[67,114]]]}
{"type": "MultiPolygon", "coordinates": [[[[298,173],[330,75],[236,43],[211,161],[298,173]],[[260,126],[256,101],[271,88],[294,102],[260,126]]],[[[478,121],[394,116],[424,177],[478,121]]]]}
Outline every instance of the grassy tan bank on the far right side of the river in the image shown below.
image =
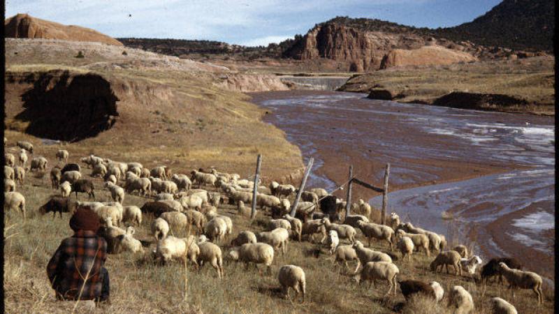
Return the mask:
{"type": "Polygon", "coordinates": [[[532,57],[389,68],[351,77],[340,91],[399,103],[554,115],[554,67],[553,57],[532,57]]]}

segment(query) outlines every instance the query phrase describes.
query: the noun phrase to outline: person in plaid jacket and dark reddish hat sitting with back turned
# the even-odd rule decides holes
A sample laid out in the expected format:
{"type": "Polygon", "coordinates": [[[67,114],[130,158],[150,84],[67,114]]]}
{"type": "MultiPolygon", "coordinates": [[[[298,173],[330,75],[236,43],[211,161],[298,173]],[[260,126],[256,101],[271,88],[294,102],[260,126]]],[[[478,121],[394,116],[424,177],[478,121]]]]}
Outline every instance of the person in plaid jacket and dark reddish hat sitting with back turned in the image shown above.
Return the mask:
{"type": "Polygon", "coordinates": [[[70,219],[72,237],[61,241],[47,265],[47,274],[59,300],[94,300],[110,303],[109,274],[103,265],[107,242],[97,235],[99,217],[78,209],[70,219]]]}

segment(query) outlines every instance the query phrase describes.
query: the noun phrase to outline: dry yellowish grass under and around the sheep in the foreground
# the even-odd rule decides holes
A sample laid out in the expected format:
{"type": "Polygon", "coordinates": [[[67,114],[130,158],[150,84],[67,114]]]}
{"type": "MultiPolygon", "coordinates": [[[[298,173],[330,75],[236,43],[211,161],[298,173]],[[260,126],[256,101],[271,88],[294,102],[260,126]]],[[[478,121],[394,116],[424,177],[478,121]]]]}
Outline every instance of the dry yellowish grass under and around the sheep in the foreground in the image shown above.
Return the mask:
{"type": "MultiPolygon", "coordinates": [[[[10,147],[11,141],[8,141],[10,147]]],[[[50,163],[55,163],[56,149],[56,145],[36,145],[36,154],[48,156],[50,163]]],[[[70,153],[68,162],[77,162],[81,157],[76,151],[71,150],[70,153]]],[[[84,165],[83,176],[89,178],[90,173],[91,170],[84,165]]],[[[98,189],[96,201],[110,201],[108,191],[102,190],[101,180],[94,179],[94,184],[98,189]]],[[[62,218],[52,218],[52,214],[41,216],[37,211],[50,195],[59,192],[50,188],[48,174],[41,178],[31,172],[27,173],[24,185],[17,186],[16,190],[26,197],[28,219],[23,223],[20,213],[4,213],[3,287],[6,313],[70,313],[75,303],[55,301],[45,272],[46,264],[61,239],[72,234],[68,227],[69,216],[63,214],[62,218]]],[[[86,200],[86,197],[80,194],[79,199],[86,200]]],[[[144,197],[126,195],[124,205],[141,207],[146,201],[144,197]]],[[[219,244],[224,255],[227,255],[229,243],[238,232],[263,230],[263,225],[270,218],[268,213],[259,211],[251,221],[239,216],[230,205],[222,205],[218,211],[233,220],[233,234],[219,244]]],[[[152,218],[144,217],[142,225],[136,227],[137,239],[153,239],[151,222],[152,218]]],[[[192,231],[172,230],[172,234],[182,236],[192,231]]],[[[358,239],[363,241],[361,233],[358,239]]],[[[345,244],[347,241],[342,242],[345,244]]],[[[457,243],[458,239],[451,240],[451,244],[457,243]]],[[[381,251],[389,250],[386,243],[378,241],[373,241],[372,246],[381,251]]],[[[108,257],[106,267],[110,273],[112,304],[98,308],[96,313],[452,313],[446,307],[446,297],[440,304],[426,299],[403,304],[404,298],[399,291],[395,297],[383,297],[388,289],[386,282],[377,282],[375,289],[369,289],[367,284],[358,285],[344,267],[332,263],[324,246],[311,244],[305,239],[300,243],[291,239],[285,255],[276,253],[271,275],[264,270],[259,274],[252,267],[245,270],[244,265],[225,260],[225,276],[221,281],[217,272],[208,265],[197,272],[192,265],[185,271],[181,262],[165,266],[156,264],[150,254],[153,248],[152,243],[150,248],[145,248],[144,254],[121,253],[108,257]],[[291,301],[282,297],[277,271],[283,264],[296,264],[304,269],[307,280],[307,300],[304,303],[294,297],[293,291],[291,301]]],[[[483,294],[483,287],[474,283],[472,278],[434,274],[428,269],[433,258],[433,255],[428,258],[424,253],[417,253],[412,255],[411,263],[395,261],[400,269],[398,280],[438,281],[445,291],[452,285],[463,285],[474,298],[475,313],[491,313],[488,306],[491,297],[499,296],[510,301],[505,286],[493,283],[483,294]]],[[[355,267],[355,262],[350,262],[350,267],[355,267]]],[[[516,292],[516,299],[511,303],[519,313],[553,313],[553,291],[544,287],[544,294],[545,302],[539,307],[529,290],[516,292]]],[[[85,310],[78,304],[76,311],[83,313],[85,310]]]]}

